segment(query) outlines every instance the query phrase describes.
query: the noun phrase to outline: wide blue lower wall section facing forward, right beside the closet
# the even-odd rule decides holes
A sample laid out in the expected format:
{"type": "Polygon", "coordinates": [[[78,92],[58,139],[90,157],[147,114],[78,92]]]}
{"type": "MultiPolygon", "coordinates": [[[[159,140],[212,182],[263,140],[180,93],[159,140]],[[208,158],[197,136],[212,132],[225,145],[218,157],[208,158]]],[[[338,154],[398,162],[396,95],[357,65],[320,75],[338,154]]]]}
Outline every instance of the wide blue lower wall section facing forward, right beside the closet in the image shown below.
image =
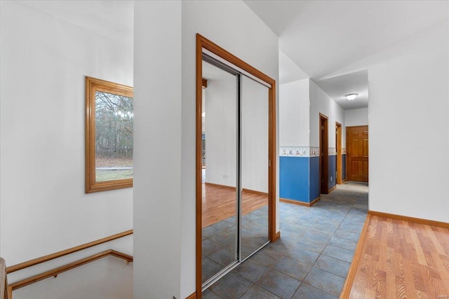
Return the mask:
{"type": "Polygon", "coordinates": [[[279,197],[309,202],[309,158],[279,157],[279,197]]]}

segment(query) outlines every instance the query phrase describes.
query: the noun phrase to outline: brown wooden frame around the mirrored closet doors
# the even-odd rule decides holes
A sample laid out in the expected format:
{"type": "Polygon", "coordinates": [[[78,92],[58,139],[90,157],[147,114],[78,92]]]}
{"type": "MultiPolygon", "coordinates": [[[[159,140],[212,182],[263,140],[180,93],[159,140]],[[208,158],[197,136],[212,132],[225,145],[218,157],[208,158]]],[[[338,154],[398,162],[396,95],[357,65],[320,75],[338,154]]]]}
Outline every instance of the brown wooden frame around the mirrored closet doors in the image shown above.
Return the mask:
{"type": "Polygon", "coordinates": [[[276,81],[263,74],[261,71],[250,66],[221,48],[217,44],[209,41],[201,34],[196,34],[196,298],[201,298],[201,274],[202,274],[202,192],[201,192],[201,136],[202,136],[202,92],[203,92],[203,48],[234,64],[236,67],[247,71],[256,78],[271,85],[268,88],[268,236],[270,242],[279,239],[279,232],[276,232],[276,81]]]}

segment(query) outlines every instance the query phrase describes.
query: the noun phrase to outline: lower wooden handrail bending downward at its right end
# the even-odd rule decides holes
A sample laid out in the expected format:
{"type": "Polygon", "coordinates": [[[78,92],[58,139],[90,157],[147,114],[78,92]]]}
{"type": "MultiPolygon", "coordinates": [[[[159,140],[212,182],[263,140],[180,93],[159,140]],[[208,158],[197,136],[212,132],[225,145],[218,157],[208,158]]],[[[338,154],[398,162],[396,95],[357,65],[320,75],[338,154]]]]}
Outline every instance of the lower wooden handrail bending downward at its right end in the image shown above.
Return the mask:
{"type": "MultiPolygon", "coordinates": [[[[91,263],[94,260],[98,260],[100,258],[104,258],[105,256],[115,256],[116,258],[121,258],[123,260],[126,260],[128,263],[133,261],[133,256],[129,256],[126,253],[121,253],[119,251],[115,251],[112,249],[109,249],[107,251],[103,251],[97,254],[94,254],[93,256],[88,256],[87,258],[83,258],[81,260],[76,260],[73,263],[69,263],[67,265],[63,265],[61,267],[57,267],[53,270],[48,270],[46,272],[43,272],[41,274],[34,275],[32,277],[28,277],[26,279],[22,279],[20,281],[14,282],[13,284],[9,285],[9,288],[11,288],[11,291],[14,291],[18,288],[22,288],[23,286],[28,286],[29,284],[34,284],[34,282],[41,281],[42,279],[46,279],[48,277],[56,277],[58,274],[62,272],[66,272],[68,270],[72,270],[76,267],[79,267],[81,265],[85,265],[87,263],[91,263]]],[[[10,298],[11,299],[11,298],[10,298]]]]}

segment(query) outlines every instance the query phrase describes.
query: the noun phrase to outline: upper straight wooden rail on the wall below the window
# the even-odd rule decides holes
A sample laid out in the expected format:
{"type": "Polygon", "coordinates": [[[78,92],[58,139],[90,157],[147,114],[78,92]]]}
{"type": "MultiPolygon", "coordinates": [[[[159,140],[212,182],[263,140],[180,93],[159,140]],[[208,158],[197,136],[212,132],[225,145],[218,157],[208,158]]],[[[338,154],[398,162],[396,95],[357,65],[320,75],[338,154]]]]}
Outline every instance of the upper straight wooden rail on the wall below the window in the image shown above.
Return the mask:
{"type": "Polygon", "coordinates": [[[12,265],[11,267],[7,267],[6,268],[6,273],[11,273],[11,272],[15,272],[15,271],[18,271],[18,270],[22,270],[22,269],[25,269],[26,267],[32,267],[34,265],[38,265],[40,263],[47,262],[48,260],[53,260],[55,258],[60,258],[61,256],[67,256],[67,254],[74,253],[76,251],[81,251],[83,249],[87,249],[89,247],[96,246],[96,245],[99,245],[99,244],[102,244],[102,243],[106,243],[106,242],[112,241],[114,239],[119,239],[121,237],[125,237],[127,235],[132,235],[132,234],[133,234],[133,230],[126,230],[126,232],[120,232],[120,233],[118,233],[116,235],[112,235],[112,236],[109,236],[109,237],[104,237],[102,239],[98,239],[98,240],[93,241],[93,242],[88,242],[86,244],[82,244],[82,245],[75,246],[75,247],[72,247],[72,248],[69,248],[69,249],[65,249],[65,250],[62,250],[62,251],[51,253],[51,254],[48,254],[47,256],[41,256],[40,258],[34,258],[33,260],[27,260],[26,262],[23,262],[23,263],[20,263],[20,264],[17,264],[17,265],[12,265]]]}

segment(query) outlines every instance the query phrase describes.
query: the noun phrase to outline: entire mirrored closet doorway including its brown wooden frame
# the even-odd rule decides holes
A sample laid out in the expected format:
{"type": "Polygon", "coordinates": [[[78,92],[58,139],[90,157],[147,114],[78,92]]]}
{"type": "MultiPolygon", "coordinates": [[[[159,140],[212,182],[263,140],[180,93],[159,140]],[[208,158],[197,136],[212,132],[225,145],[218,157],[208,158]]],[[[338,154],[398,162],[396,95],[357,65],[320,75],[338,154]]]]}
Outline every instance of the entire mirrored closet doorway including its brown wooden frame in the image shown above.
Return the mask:
{"type": "Polygon", "coordinates": [[[275,81],[203,36],[197,34],[196,41],[196,295],[201,298],[201,291],[279,234],[275,81]]]}

